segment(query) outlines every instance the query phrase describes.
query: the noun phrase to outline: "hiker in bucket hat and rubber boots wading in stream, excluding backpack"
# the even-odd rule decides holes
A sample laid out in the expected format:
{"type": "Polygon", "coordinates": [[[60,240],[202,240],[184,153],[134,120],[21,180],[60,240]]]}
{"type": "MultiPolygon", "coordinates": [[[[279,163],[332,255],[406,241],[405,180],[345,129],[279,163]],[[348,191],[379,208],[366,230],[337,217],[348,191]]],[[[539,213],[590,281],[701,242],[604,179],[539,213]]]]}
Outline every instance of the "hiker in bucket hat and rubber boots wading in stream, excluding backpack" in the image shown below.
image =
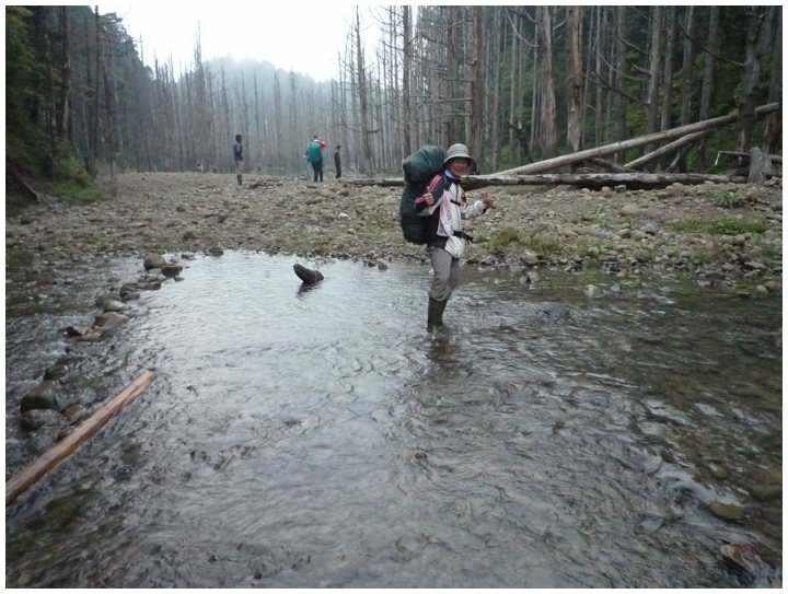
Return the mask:
{"type": "Polygon", "coordinates": [[[434,272],[427,308],[427,331],[430,334],[443,326],[443,311],[460,280],[460,258],[465,244],[473,241],[462,232],[462,219],[478,217],[495,208],[495,198],[489,194],[473,205],[465,202],[460,178],[467,173],[471,164],[467,147],[452,144],[443,160],[440,178],[415,201],[416,212],[429,217],[427,253],[434,272]]]}

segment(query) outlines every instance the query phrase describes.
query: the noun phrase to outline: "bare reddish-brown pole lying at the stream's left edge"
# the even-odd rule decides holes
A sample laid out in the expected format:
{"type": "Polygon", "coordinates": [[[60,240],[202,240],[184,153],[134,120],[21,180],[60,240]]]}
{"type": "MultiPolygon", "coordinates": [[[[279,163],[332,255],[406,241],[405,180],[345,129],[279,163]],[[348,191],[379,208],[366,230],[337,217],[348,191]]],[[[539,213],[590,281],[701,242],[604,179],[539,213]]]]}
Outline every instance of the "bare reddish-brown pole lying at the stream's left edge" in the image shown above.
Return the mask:
{"type": "Polygon", "coordinates": [[[152,371],[143,371],[126,389],[101,407],[90,419],[79,426],[73,433],[50,447],[30,466],[12,476],[5,482],[5,506],[8,508],[20,494],[73,454],[88,438],[104,427],[112,417],[147,388],[154,377],[155,373],[152,371]]]}

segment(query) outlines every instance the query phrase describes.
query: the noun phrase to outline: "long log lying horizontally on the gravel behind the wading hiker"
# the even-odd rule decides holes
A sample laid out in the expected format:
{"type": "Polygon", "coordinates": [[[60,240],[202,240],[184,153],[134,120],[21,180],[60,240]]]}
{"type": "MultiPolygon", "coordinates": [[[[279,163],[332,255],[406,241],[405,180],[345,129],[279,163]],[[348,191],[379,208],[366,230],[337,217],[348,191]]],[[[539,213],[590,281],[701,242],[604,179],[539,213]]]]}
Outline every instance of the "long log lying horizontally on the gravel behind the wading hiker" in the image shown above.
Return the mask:
{"type": "MultiPolygon", "coordinates": [[[[599,190],[605,186],[626,186],[628,189],[660,189],[672,184],[697,186],[706,182],[728,184],[730,178],[727,175],[704,175],[700,173],[489,174],[463,177],[462,185],[466,190],[488,186],[575,186],[599,190]]],[[[386,177],[384,179],[348,179],[345,183],[352,186],[398,187],[403,185],[403,179],[402,177],[386,177]]]]}

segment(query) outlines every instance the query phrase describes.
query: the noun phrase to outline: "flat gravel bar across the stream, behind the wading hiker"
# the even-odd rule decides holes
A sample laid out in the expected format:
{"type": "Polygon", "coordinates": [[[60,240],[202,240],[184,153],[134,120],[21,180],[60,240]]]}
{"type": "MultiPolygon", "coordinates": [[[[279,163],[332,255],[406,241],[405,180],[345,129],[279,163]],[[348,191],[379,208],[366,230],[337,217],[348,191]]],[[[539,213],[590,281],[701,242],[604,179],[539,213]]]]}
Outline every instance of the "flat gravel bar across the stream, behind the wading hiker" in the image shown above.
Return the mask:
{"type": "MultiPolygon", "coordinates": [[[[466,222],[468,264],[554,266],[619,277],[682,272],[738,290],[779,290],[781,178],[765,185],[674,185],[602,191],[488,188],[498,208],[466,222]]],[[[304,257],[424,259],[398,226],[399,188],[216,174],[129,173],[119,196],[54,202],[7,217],[11,266],[85,254],[204,253],[210,247],[304,257]]],[[[482,190],[468,193],[478,199],[482,190]]]]}

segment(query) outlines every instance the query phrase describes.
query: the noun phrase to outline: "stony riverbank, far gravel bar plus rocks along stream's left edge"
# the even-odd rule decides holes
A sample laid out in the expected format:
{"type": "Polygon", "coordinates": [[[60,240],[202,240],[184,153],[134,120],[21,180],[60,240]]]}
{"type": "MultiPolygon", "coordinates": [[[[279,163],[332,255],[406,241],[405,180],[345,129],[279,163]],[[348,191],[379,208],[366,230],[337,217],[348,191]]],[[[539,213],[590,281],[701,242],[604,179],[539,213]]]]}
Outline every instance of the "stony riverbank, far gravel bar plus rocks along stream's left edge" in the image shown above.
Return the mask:
{"type": "MultiPolygon", "coordinates": [[[[467,221],[465,229],[475,236],[465,253],[468,265],[507,267],[524,281],[545,267],[581,272],[578,288],[589,296],[596,294],[595,279],[631,283],[645,273],[670,276],[697,290],[756,299],[781,294],[781,178],[654,191],[484,191],[494,194],[497,208],[467,221]]],[[[116,198],[86,205],[49,198],[46,205],[7,213],[7,315],[14,306],[10,299],[35,303],[40,298],[36,291],[47,283],[69,291],[74,282],[69,267],[114,257],[137,257],[144,264],[135,278],[104,279],[84,304],[99,315],[62,328],[66,353],[46,366],[43,378],[36,378],[39,384],[31,389],[26,378],[9,387],[7,378],[7,411],[13,411],[7,424],[37,435],[27,453],[7,461],[7,477],[102,404],[63,399],[63,385],[80,385],[73,381],[83,361],[80,352],[112,337],[141,291],[179,280],[183,260],[252,249],[370,266],[398,258],[426,263],[425,248],[402,237],[399,195],[399,188],[333,179],[317,184],[250,176],[239,186],[234,175],[128,173],[119,177],[116,198]],[[25,286],[33,294],[20,298],[20,291],[11,290],[25,286]]],[[[480,196],[468,193],[470,200],[480,196]]],[[[9,352],[13,340],[7,330],[7,375],[13,365],[9,352]]]]}

